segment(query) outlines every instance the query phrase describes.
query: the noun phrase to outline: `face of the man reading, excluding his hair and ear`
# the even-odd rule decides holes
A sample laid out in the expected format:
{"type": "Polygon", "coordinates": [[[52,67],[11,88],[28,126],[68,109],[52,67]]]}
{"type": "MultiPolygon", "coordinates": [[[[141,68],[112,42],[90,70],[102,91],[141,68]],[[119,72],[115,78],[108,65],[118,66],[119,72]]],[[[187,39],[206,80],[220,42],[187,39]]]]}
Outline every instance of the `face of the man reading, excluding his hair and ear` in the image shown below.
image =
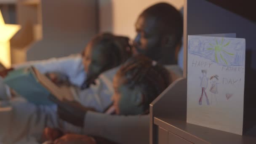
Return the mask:
{"type": "Polygon", "coordinates": [[[134,52],[158,61],[161,52],[161,35],[157,19],[140,15],[135,23],[137,35],[133,41],[134,52]]]}

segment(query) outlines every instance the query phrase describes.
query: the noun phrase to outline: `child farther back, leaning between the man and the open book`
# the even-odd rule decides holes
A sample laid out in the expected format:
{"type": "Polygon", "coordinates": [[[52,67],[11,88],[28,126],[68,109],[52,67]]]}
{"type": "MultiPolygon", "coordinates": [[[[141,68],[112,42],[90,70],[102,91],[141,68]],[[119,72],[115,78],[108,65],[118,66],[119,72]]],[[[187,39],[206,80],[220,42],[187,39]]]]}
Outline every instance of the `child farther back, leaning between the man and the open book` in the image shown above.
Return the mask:
{"type": "MultiPolygon", "coordinates": [[[[82,52],[82,63],[86,73],[84,83],[81,88],[72,87],[72,94],[77,95],[79,102],[84,106],[103,112],[111,104],[111,95],[106,96],[103,92],[95,96],[90,93],[91,89],[85,88],[95,83],[96,78],[102,72],[119,66],[129,57],[131,57],[131,46],[128,37],[115,36],[110,33],[96,35],[82,52]]],[[[68,77],[61,73],[51,72],[46,75],[59,86],[71,85],[68,77]]]]}

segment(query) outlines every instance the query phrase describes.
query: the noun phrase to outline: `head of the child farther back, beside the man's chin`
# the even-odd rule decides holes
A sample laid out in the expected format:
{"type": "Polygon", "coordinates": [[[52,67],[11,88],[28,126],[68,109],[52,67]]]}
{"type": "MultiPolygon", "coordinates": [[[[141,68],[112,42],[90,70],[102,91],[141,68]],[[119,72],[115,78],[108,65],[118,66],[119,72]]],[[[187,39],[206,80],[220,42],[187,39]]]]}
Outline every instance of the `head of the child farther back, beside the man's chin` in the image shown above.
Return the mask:
{"type": "Polygon", "coordinates": [[[117,67],[131,56],[129,38],[110,33],[96,35],[82,55],[87,79],[95,79],[102,72],[117,67]]]}

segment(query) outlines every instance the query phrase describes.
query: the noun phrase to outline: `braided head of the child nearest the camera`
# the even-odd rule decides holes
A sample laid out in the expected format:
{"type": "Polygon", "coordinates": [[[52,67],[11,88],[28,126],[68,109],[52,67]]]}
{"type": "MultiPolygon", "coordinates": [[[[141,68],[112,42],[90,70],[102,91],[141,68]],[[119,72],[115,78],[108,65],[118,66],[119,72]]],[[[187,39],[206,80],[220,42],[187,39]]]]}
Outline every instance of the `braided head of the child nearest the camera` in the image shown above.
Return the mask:
{"type": "Polygon", "coordinates": [[[145,56],[128,59],[114,77],[113,95],[116,113],[139,115],[168,87],[171,76],[167,69],[145,56]]]}

